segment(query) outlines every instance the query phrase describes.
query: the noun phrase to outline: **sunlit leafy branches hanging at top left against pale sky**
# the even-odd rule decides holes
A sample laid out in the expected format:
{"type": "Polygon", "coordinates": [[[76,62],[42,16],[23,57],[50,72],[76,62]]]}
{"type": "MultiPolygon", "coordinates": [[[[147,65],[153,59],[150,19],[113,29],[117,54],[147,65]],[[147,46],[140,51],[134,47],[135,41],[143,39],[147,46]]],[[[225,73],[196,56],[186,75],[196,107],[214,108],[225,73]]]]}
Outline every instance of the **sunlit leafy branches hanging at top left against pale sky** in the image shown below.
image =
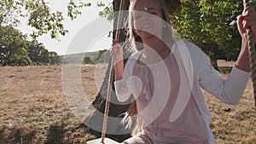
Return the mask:
{"type": "MultiPolygon", "coordinates": [[[[62,12],[60,10],[52,11],[49,8],[49,3],[44,2],[44,0],[0,0],[0,5],[0,11],[7,9],[28,18],[28,25],[34,28],[31,34],[34,39],[47,33],[52,38],[57,38],[60,35],[65,36],[68,32],[63,25],[62,12]]],[[[71,20],[76,19],[81,14],[80,9],[84,7],[90,7],[90,3],[85,3],[83,0],[70,0],[67,5],[67,16],[71,20]]],[[[0,20],[4,17],[6,16],[0,14],[0,20]]]]}

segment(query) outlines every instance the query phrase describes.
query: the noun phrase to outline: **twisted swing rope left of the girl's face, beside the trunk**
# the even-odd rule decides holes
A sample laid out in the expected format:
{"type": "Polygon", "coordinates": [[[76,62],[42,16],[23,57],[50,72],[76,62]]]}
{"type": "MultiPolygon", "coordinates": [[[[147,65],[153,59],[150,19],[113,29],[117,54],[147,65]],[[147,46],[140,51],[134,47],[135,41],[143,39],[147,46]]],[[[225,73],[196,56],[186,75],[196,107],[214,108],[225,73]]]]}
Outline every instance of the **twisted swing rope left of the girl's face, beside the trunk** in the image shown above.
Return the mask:
{"type": "MultiPolygon", "coordinates": [[[[119,35],[120,35],[120,26],[121,26],[121,16],[123,15],[123,9],[124,9],[124,0],[120,0],[120,6],[119,6],[119,15],[117,20],[117,29],[115,32],[115,37],[113,40],[113,43],[119,42],[119,35]]],[[[105,106],[105,112],[104,112],[104,118],[103,118],[103,126],[102,126],[102,143],[104,144],[104,139],[106,137],[106,131],[107,131],[107,125],[108,125],[108,112],[109,112],[109,104],[111,99],[111,91],[112,91],[112,84],[113,84],[113,58],[110,63],[110,72],[109,72],[109,78],[108,78],[108,93],[106,97],[106,106],[105,106]]]]}

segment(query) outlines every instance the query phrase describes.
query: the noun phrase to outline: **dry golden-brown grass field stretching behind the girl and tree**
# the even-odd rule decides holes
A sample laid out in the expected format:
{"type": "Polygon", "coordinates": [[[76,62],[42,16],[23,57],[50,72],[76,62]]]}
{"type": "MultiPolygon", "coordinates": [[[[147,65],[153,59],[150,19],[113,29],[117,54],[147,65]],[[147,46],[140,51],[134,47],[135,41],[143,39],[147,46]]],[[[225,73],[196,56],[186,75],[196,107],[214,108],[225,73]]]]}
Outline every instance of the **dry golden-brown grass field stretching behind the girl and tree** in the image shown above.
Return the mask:
{"type": "MultiPolygon", "coordinates": [[[[219,66],[233,63],[219,61],[219,66]]],[[[95,66],[81,70],[85,95],[97,94],[95,66]]],[[[67,106],[62,92],[61,66],[0,67],[0,144],[85,143],[93,138],[67,106]]],[[[101,73],[103,77],[104,72],[101,73]]],[[[227,77],[224,74],[224,77],[227,77]]],[[[217,143],[256,143],[256,111],[251,80],[238,106],[221,104],[207,95],[217,143]]]]}

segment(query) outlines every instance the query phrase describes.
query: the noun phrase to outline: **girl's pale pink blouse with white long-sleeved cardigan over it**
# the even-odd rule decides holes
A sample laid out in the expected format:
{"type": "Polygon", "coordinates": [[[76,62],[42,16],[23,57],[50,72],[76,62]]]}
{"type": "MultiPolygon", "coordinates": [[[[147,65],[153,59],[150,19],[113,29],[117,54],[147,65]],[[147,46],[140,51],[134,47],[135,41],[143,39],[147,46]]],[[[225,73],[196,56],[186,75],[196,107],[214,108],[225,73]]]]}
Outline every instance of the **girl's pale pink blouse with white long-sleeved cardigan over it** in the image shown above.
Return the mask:
{"type": "MultiPolygon", "coordinates": [[[[172,124],[176,124],[184,133],[190,132],[189,135],[193,132],[197,135],[207,133],[201,136],[201,140],[207,136],[208,143],[214,143],[209,126],[211,114],[201,88],[224,103],[236,105],[247,85],[250,72],[243,72],[234,66],[229,77],[224,79],[209,65],[209,58],[201,49],[184,40],[173,44],[170,54],[172,56],[153,65],[138,66],[137,60],[141,53],[139,51],[131,55],[125,65],[123,79],[114,83],[118,100],[127,101],[131,94],[134,96],[137,100],[138,114],[146,124],[145,130],[155,128],[159,130],[164,125],[165,130],[171,130],[170,135],[175,135],[177,131],[172,132],[174,127],[172,124]],[[139,71],[146,73],[135,74],[139,71]],[[142,96],[143,94],[145,95],[142,96]],[[198,112],[195,112],[196,110],[198,112]],[[163,122],[160,118],[163,115],[168,117],[168,122],[163,122]],[[205,122],[203,125],[200,119],[205,122]],[[186,122],[197,125],[188,126],[186,122]],[[185,124],[189,129],[182,127],[185,124]],[[166,128],[168,125],[170,128],[166,128]]],[[[165,139],[162,137],[163,132],[160,135],[160,139],[165,139]]],[[[193,136],[200,139],[196,135],[193,136]]],[[[159,136],[156,135],[157,137],[159,136]]],[[[166,141],[170,140],[167,138],[166,141]]]]}

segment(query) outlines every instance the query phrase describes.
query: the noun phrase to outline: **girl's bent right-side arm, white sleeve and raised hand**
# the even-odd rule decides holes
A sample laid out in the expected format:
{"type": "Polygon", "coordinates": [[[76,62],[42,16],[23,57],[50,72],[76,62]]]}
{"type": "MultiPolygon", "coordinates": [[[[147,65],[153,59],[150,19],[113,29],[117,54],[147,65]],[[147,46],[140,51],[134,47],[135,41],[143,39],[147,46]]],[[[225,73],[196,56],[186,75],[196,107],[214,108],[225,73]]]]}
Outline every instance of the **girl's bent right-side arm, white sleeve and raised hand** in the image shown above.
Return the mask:
{"type": "MultiPolygon", "coordinates": [[[[251,27],[253,31],[253,40],[256,41],[256,12],[251,7],[246,7],[241,15],[237,17],[237,27],[241,34],[241,51],[236,60],[236,66],[230,72],[227,79],[215,70],[212,66],[207,66],[207,63],[201,63],[198,68],[200,72],[200,85],[212,95],[218,97],[219,100],[227,104],[236,105],[247,86],[247,80],[250,76],[249,50],[247,42],[247,27],[251,27]]],[[[199,57],[199,56],[198,56],[199,57]]],[[[203,59],[206,56],[202,56],[203,59]]],[[[202,60],[201,60],[202,61],[202,60]]],[[[199,61],[199,63],[201,62],[199,61]]]]}

